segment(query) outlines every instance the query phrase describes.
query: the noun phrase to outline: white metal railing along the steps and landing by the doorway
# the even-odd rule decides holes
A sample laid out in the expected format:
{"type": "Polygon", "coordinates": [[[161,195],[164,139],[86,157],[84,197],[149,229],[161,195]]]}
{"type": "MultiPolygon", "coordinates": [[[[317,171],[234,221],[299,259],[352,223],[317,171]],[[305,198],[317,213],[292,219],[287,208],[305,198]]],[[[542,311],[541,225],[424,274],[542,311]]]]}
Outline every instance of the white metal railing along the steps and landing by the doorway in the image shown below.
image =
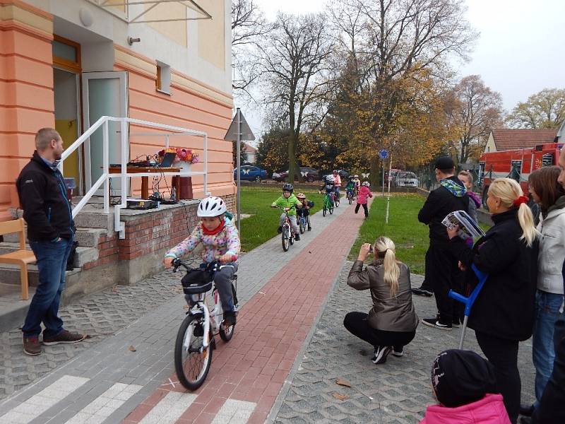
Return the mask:
{"type": "MultiPolygon", "coordinates": [[[[209,195],[207,191],[207,176],[208,176],[208,135],[203,131],[196,131],[193,129],[186,129],[180,126],[172,126],[165,124],[157,124],[156,122],[142,121],[140,119],[133,118],[115,118],[115,117],[100,117],[88,130],[85,131],[83,135],[78,137],[69,148],[66,148],[61,155],[61,162],[59,163],[59,170],[63,173],[64,167],[63,162],[66,158],[76,151],[76,149],[81,146],[85,141],[90,139],[90,136],[102,126],[102,175],[97,179],[97,181],[92,184],[92,187],[83,196],[83,199],[78,202],[78,204],[73,208],[73,218],[81,211],[85,204],[90,200],[90,198],[97,192],[98,189],[104,185],[104,213],[109,213],[109,178],[120,178],[121,179],[121,203],[114,206],[114,230],[119,231],[119,237],[125,237],[125,225],[120,220],[120,210],[126,208],[127,206],[127,189],[129,187],[129,178],[131,177],[154,177],[155,172],[127,172],[127,163],[129,162],[128,146],[129,146],[129,124],[138,124],[153,129],[163,129],[166,131],[172,131],[167,133],[162,132],[151,132],[146,134],[148,136],[165,136],[165,148],[169,147],[169,136],[201,136],[203,137],[203,164],[204,170],[198,172],[160,172],[159,175],[179,175],[181,177],[190,177],[192,175],[202,175],[204,183],[204,194],[209,195]],[[119,122],[120,123],[120,139],[121,139],[121,172],[116,174],[109,173],[109,133],[108,133],[108,122],[119,122]]],[[[136,134],[136,136],[141,134],[136,134]]]]}

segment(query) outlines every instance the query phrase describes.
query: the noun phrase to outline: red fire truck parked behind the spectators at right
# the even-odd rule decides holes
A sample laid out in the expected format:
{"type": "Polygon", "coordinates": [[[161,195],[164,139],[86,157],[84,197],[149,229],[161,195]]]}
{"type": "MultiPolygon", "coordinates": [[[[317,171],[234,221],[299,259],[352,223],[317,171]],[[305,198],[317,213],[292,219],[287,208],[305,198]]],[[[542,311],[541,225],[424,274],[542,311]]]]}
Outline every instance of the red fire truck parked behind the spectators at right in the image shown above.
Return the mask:
{"type": "Polygon", "coordinates": [[[495,178],[516,179],[523,192],[528,193],[530,172],[540,167],[557,165],[563,144],[545,143],[530,148],[482,153],[479,160],[479,183],[482,186],[483,206],[487,202],[490,183],[495,178]]]}

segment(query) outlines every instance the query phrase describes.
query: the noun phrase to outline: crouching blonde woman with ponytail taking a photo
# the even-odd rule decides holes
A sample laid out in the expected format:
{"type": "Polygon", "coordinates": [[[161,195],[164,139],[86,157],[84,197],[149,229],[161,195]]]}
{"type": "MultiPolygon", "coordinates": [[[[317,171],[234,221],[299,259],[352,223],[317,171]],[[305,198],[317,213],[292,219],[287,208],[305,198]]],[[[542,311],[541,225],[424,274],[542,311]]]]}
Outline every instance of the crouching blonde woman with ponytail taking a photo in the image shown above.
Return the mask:
{"type": "Polygon", "coordinates": [[[403,347],[416,334],[418,317],[412,303],[410,268],[396,260],[393,241],[381,236],[372,249],[375,260],[363,269],[371,244],[361,246],[347,284],[356,290],[370,289],[373,307],[369,314],[349,312],[343,319],[343,325],[351,334],[374,346],[371,360],[382,364],[391,351],[394,356],[403,355],[403,347]]]}

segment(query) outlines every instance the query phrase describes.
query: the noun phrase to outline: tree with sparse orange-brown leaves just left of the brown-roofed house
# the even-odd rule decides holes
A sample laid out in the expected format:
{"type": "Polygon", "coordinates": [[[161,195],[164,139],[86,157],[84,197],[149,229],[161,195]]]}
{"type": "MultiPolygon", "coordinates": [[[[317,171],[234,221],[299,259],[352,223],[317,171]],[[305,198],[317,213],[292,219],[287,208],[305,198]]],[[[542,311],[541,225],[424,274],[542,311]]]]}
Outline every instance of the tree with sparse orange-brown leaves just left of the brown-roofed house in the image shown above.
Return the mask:
{"type": "Polygon", "coordinates": [[[446,114],[456,131],[449,141],[458,163],[478,158],[484,150],[491,129],[502,125],[502,98],[478,75],[465,76],[448,93],[446,114]]]}

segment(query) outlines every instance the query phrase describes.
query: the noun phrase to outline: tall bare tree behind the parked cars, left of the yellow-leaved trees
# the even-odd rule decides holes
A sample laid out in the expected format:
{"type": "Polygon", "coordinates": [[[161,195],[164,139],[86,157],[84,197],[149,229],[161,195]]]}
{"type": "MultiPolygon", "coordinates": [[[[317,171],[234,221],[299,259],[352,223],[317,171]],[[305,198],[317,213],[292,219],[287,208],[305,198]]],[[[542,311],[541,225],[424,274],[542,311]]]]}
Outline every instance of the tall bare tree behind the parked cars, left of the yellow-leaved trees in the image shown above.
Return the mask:
{"type": "Polygon", "coordinates": [[[298,176],[296,144],[303,126],[315,127],[323,118],[331,91],[329,58],[333,40],[320,14],[279,13],[261,49],[264,100],[288,125],[289,180],[298,176]]]}

